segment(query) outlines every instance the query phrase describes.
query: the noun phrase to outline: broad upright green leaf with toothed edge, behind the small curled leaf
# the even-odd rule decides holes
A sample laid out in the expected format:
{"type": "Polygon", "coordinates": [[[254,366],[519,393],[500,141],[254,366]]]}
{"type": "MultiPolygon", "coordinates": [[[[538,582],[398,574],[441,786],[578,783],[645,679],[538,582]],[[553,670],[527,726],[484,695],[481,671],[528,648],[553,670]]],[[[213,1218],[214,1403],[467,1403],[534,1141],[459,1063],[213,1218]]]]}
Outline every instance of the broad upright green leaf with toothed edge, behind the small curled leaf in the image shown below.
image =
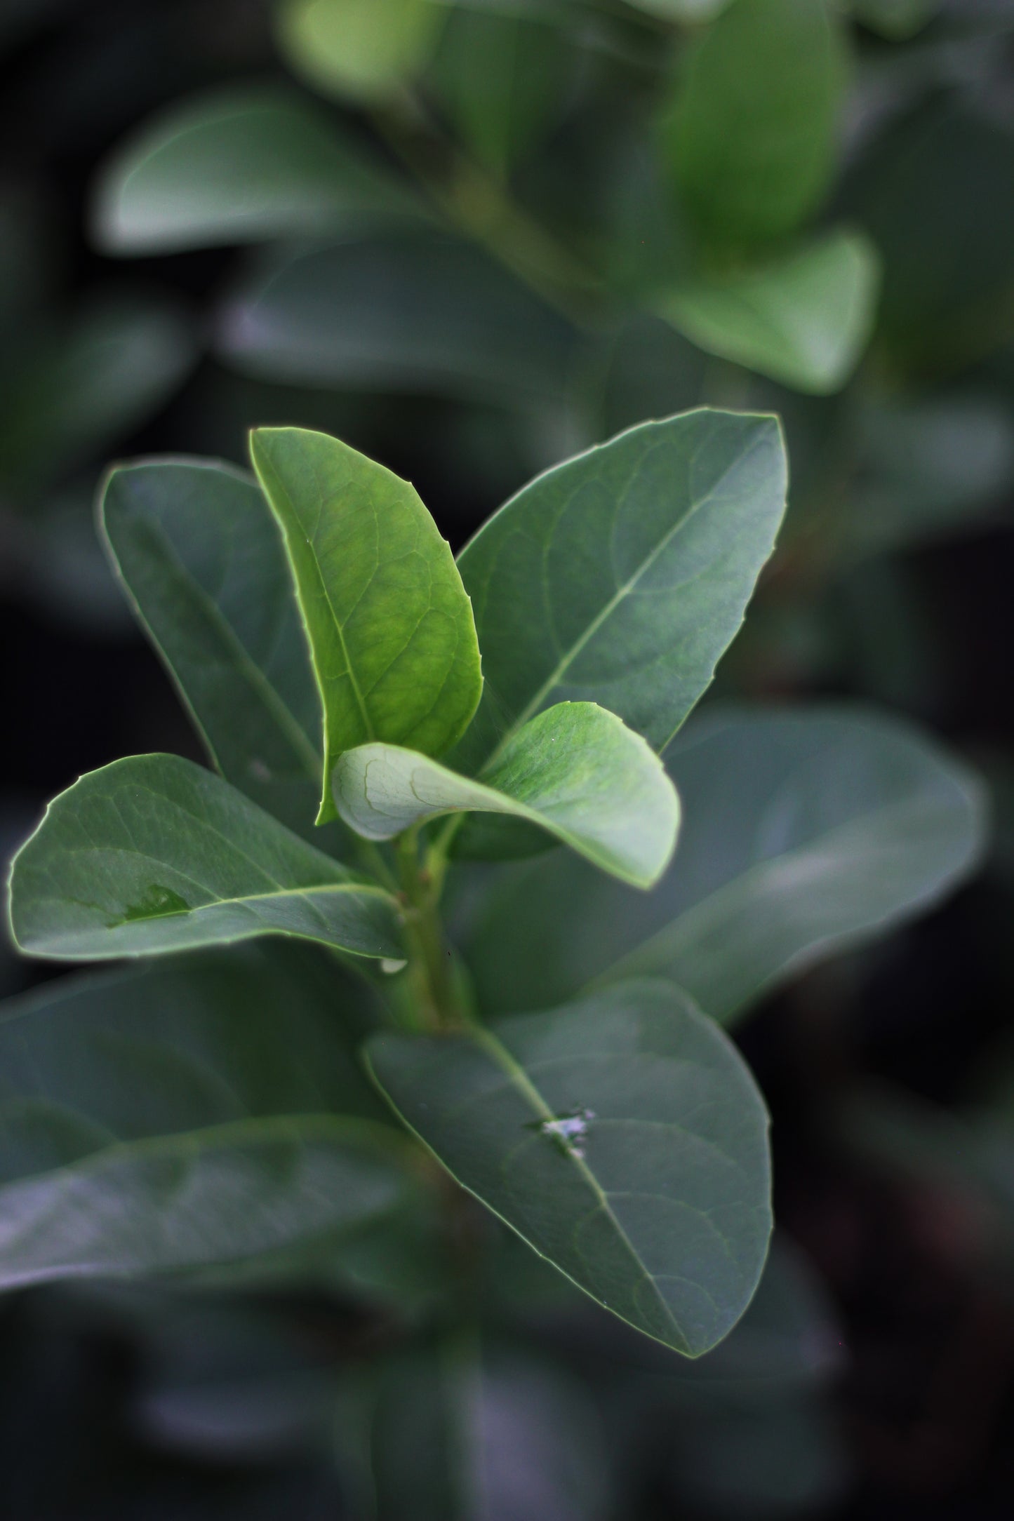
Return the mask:
{"type": "Polygon", "coordinates": [[[778,421],[701,409],[537,476],[459,557],[485,687],[455,764],[593,701],[664,750],[739,630],[784,511],[778,421]]]}

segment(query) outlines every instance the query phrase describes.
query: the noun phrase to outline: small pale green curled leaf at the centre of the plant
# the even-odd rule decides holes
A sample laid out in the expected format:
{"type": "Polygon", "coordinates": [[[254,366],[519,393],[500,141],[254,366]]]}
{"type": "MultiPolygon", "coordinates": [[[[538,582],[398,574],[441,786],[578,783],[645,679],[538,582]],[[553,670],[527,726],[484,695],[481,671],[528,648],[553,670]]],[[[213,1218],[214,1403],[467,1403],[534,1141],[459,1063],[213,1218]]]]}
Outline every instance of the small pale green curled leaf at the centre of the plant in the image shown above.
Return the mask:
{"type": "Polygon", "coordinates": [[[345,823],[368,840],[438,814],[506,814],[635,887],[664,872],[680,821],[658,757],[594,703],[558,703],[532,718],[480,782],[412,750],[360,745],[341,756],[333,788],[345,823]]]}

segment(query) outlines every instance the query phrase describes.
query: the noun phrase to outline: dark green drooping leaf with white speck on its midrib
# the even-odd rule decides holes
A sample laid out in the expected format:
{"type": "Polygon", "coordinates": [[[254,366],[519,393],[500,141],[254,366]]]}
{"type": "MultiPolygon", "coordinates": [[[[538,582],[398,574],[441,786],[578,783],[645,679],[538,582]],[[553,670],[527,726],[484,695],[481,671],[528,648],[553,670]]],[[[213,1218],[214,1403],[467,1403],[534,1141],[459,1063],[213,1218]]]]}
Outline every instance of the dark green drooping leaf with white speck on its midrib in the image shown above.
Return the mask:
{"type": "Polygon", "coordinates": [[[768,1116],[678,989],[366,1049],[458,1182],[607,1310],[692,1357],[731,1329],[768,1249],[768,1116]]]}

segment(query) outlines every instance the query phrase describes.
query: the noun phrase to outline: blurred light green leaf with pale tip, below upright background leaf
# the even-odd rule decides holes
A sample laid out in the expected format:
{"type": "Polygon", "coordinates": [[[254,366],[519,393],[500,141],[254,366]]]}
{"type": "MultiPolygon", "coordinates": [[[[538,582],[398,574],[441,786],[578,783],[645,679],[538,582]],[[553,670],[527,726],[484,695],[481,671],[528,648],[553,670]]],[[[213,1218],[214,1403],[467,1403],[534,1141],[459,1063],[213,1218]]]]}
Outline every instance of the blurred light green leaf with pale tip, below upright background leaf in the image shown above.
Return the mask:
{"type": "Polygon", "coordinates": [[[832,233],[775,263],[693,280],[655,301],[701,348],[800,391],[838,391],[873,329],[879,263],[867,237],[832,233]]]}

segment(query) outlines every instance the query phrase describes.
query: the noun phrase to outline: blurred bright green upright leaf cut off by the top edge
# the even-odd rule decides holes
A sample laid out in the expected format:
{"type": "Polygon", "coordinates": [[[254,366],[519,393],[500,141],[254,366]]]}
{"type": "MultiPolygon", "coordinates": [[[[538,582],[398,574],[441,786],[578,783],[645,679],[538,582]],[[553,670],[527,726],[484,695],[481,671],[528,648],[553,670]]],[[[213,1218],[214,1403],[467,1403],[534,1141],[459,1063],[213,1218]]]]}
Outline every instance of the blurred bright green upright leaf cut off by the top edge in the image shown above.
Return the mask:
{"type": "Polygon", "coordinates": [[[792,233],[835,167],[845,88],[822,0],[734,0],[686,59],[661,131],[689,211],[713,239],[792,233]]]}

